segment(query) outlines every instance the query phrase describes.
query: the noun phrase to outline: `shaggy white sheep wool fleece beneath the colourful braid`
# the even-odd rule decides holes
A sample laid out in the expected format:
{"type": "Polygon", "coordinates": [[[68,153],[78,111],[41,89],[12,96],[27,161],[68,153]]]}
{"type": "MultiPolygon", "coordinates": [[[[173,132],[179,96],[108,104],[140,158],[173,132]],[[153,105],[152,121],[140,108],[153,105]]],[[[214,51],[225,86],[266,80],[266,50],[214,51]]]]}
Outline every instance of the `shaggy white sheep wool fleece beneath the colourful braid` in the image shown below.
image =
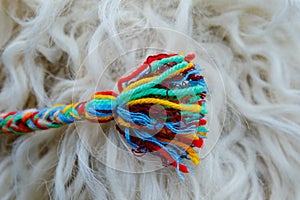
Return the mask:
{"type": "Polygon", "coordinates": [[[205,68],[213,138],[182,180],[114,122],[1,134],[1,199],[300,199],[299,1],[0,2],[1,113],[84,101],[182,50],[205,68]]]}

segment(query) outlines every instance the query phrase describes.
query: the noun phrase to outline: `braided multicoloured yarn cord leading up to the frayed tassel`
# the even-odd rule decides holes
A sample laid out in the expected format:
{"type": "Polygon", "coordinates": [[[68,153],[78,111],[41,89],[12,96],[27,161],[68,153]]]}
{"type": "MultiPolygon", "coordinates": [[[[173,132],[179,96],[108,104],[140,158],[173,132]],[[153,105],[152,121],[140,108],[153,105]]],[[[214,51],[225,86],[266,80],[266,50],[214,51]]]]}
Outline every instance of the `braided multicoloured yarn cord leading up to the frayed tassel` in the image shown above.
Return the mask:
{"type": "Polygon", "coordinates": [[[75,121],[107,122],[113,119],[116,105],[113,92],[101,92],[89,101],[67,105],[57,104],[41,110],[29,109],[0,115],[0,133],[24,134],[36,130],[59,128],[75,121]]]}

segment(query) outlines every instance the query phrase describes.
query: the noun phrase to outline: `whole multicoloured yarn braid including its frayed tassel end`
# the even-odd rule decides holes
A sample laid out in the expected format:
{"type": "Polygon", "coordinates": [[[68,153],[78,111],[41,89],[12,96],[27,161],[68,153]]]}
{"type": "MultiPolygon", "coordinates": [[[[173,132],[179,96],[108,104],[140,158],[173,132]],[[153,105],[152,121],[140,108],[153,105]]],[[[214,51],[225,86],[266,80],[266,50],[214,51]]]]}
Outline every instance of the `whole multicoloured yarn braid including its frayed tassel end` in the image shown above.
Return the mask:
{"type": "Polygon", "coordinates": [[[85,102],[0,114],[0,133],[24,134],[79,120],[114,119],[135,155],[157,155],[182,177],[180,172],[191,171],[186,160],[200,163],[194,148],[201,148],[207,135],[207,85],[191,62],[194,57],[149,56],[136,71],[119,79],[119,95],[103,91],[85,102]]]}

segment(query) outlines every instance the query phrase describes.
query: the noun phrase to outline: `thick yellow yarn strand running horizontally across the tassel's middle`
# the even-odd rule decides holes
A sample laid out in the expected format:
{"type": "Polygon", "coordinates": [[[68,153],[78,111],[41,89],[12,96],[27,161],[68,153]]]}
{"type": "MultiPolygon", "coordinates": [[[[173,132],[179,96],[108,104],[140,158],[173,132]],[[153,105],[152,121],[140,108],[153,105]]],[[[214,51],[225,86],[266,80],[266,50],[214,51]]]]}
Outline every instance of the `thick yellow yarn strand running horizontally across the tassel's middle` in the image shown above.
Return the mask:
{"type": "Polygon", "coordinates": [[[162,106],[169,106],[177,110],[185,110],[185,111],[196,112],[196,113],[199,113],[201,111],[201,106],[199,106],[198,104],[184,105],[184,104],[173,103],[167,100],[155,99],[155,98],[137,99],[137,100],[130,101],[129,103],[127,103],[127,105],[132,106],[136,104],[150,104],[150,103],[159,104],[162,106]]]}

